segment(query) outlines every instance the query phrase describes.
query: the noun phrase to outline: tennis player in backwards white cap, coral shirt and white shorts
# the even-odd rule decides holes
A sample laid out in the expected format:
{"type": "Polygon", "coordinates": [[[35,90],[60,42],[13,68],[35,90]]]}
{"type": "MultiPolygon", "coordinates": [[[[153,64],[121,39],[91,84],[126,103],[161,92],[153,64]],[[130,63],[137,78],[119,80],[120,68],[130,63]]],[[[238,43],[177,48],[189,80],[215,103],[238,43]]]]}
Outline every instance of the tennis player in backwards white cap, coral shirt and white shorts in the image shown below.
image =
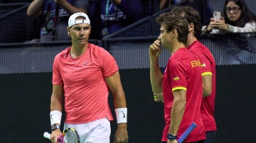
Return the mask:
{"type": "Polygon", "coordinates": [[[64,106],[64,129],[75,128],[80,142],[109,143],[110,120],[114,120],[108,104],[110,91],[117,116],[114,142],[128,142],[127,105],[117,62],[105,49],[88,42],[90,31],[87,14],[74,13],[67,27],[72,45],[54,58],[50,100],[52,142],[57,142],[61,135],[64,106]]]}

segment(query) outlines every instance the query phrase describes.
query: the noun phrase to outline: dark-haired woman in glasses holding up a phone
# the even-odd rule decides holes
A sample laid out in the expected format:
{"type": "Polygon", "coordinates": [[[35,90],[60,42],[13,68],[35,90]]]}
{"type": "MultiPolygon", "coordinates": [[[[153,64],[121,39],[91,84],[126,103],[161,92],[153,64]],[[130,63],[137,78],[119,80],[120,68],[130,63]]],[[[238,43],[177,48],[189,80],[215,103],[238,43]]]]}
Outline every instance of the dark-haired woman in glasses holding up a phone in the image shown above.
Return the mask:
{"type": "Polygon", "coordinates": [[[210,18],[210,23],[203,26],[206,35],[217,33],[250,33],[256,32],[256,17],[247,8],[243,0],[226,0],[223,17],[220,20],[210,18]]]}

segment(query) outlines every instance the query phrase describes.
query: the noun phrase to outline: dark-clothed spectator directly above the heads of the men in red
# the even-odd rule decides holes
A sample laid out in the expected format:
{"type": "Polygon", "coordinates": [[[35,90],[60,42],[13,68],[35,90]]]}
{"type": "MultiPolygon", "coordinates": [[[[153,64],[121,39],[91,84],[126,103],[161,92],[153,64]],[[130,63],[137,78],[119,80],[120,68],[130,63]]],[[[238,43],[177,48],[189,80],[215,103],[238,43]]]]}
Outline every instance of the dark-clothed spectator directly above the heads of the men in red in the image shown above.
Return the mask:
{"type": "Polygon", "coordinates": [[[201,16],[202,25],[209,23],[209,19],[213,16],[213,12],[207,0],[160,0],[159,8],[160,10],[163,10],[174,4],[195,8],[201,16]]]}

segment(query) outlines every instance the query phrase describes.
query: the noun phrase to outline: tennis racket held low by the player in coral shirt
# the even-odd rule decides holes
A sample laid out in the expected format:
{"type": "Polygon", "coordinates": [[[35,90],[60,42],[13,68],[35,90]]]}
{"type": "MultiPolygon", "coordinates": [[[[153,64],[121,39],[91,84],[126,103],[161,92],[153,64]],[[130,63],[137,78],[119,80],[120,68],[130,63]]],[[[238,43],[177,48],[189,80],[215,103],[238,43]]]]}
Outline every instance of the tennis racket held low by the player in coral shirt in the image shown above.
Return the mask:
{"type": "MultiPolygon", "coordinates": [[[[50,139],[50,133],[44,132],[43,137],[50,139]]],[[[72,128],[68,127],[63,131],[63,134],[58,137],[58,143],[79,143],[78,132],[72,128]]]]}

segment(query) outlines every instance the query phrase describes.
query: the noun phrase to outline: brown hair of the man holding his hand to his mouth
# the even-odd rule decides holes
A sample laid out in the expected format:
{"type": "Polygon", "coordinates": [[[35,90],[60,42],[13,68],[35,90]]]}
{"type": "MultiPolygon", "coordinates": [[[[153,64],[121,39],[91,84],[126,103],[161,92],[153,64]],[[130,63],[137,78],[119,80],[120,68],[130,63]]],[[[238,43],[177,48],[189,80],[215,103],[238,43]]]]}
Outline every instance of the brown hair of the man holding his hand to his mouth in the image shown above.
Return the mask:
{"type": "Polygon", "coordinates": [[[169,12],[162,13],[156,18],[156,21],[160,25],[164,25],[167,33],[175,28],[178,32],[178,41],[186,44],[188,40],[188,21],[186,21],[186,18],[169,12]]]}

